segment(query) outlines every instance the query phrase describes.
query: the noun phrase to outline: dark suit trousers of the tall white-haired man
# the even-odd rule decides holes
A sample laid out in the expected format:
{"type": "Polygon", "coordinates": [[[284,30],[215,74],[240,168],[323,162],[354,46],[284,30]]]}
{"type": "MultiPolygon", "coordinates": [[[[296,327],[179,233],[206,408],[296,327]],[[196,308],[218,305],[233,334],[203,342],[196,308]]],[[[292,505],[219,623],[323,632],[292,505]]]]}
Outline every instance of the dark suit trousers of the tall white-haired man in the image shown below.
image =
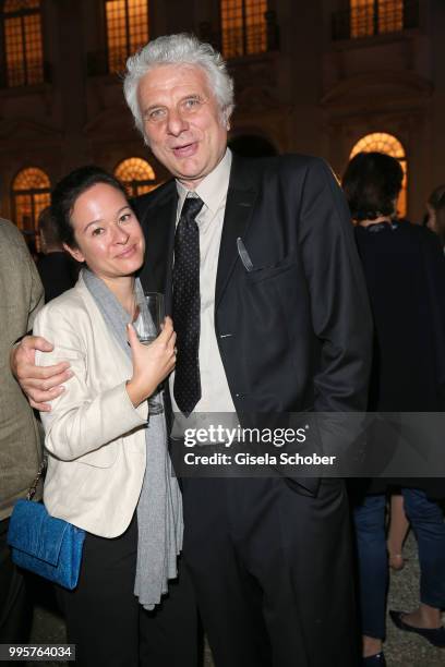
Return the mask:
{"type": "Polygon", "coordinates": [[[216,667],[357,665],[344,485],[183,480],[184,561],[216,667]]]}

